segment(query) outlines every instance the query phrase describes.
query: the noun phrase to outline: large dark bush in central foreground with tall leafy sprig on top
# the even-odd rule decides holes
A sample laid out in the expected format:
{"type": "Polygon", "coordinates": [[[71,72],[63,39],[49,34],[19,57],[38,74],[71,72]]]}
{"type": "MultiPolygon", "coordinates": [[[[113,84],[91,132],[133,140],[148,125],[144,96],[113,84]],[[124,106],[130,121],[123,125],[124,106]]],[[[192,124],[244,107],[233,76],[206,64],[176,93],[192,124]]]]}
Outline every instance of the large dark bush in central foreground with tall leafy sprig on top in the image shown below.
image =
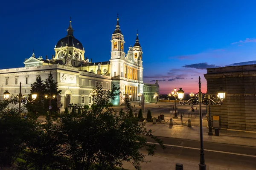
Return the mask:
{"type": "Polygon", "coordinates": [[[146,148],[149,155],[154,154],[155,144],[148,144],[145,137],[156,140],[164,148],[160,139],[146,130],[144,125],[134,122],[134,119],[120,119],[113,108],[108,106],[110,99],[115,99],[118,88],[113,86],[111,91],[105,91],[97,86],[94,104],[91,110],[78,115],[61,116],[58,131],[61,132],[61,151],[70,162],[71,169],[92,169],[93,163],[99,164],[105,170],[122,167],[123,161],[134,164],[145,161],[145,155],[140,153],[146,148]],[[102,100],[104,99],[104,100],[102,100]],[[79,129],[79,130],[78,130],[79,129]]]}

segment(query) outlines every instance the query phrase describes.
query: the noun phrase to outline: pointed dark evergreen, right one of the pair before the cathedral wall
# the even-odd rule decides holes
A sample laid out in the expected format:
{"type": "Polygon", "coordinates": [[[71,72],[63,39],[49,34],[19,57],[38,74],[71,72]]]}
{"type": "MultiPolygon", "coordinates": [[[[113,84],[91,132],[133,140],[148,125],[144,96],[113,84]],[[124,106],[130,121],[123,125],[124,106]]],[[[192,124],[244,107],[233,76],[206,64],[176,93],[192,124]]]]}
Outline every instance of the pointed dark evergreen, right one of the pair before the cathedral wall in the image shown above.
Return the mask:
{"type": "MultiPolygon", "coordinates": [[[[52,73],[50,72],[50,74],[48,75],[48,78],[44,81],[45,83],[45,94],[47,94],[48,96],[57,96],[59,94],[61,94],[61,90],[58,90],[57,88],[57,82],[54,81],[52,73]]],[[[47,102],[45,103],[46,108],[49,107],[49,98],[47,99],[47,102]]],[[[59,111],[59,108],[57,108],[57,99],[52,98],[51,99],[51,114],[56,114],[59,111]]]]}

